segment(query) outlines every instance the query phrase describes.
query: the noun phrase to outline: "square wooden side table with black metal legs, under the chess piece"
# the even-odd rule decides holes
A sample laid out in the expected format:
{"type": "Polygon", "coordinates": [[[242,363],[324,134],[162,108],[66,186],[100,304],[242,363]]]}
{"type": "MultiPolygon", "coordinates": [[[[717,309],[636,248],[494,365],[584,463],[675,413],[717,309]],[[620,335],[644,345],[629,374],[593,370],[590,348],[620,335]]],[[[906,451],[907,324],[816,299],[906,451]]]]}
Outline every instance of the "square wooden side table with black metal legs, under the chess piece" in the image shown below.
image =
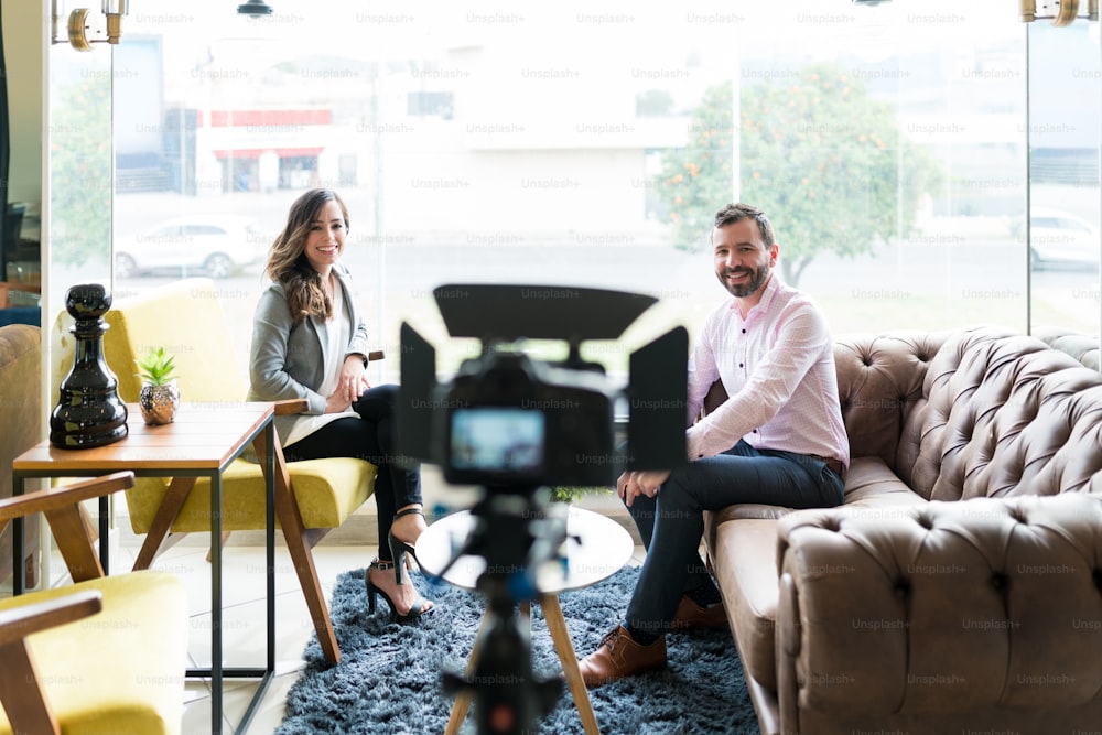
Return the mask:
{"type": "MultiPolygon", "coordinates": [[[[187,677],[210,678],[212,732],[223,725],[223,678],[259,678],[260,683],[238,732],[244,732],[256,713],[276,672],[276,430],[272,403],[183,403],[174,422],[149,426],[137,404],[127,407],[129,434],[126,439],[85,450],[62,450],[50,442],[31,447],[12,462],[12,491],[22,495],[24,483],[34,477],[94,477],[129,469],[138,477],[210,479],[210,668],[187,669],[187,677]],[[263,457],[267,479],[267,603],[268,662],[260,668],[223,666],[222,646],[222,477],[227,467],[252,444],[263,457]]],[[[108,504],[100,501],[100,561],[107,560],[108,504]]],[[[22,555],[23,528],[13,521],[15,559],[22,555]]],[[[13,593],[23,592],[22,565],[15,564],[13,593]]]]}

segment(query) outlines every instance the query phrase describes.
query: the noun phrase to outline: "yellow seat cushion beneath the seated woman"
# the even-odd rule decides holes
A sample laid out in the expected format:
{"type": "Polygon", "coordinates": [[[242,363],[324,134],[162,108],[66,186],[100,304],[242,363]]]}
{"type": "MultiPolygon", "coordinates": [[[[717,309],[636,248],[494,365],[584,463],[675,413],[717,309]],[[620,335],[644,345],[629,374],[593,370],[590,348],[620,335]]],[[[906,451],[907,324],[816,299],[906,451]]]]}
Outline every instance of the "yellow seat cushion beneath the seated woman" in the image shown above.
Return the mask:
{"type": "MultiPolygon", "coordinates": [[[[375,490],[377,467],[363,460],[334,457],[288,463],[291,486],[305,528],[337,528],[375,490]]],[[[140,477],[128,489],[130,527],[145,533],[169,487],[169,479],[140,477]]],[[[224,531],[264,528],[264,477],[260,465],[237,460],[223,475],[224,531]]],[[[278,522],[278,519],[277,519],[278,522]]],[[[172,525],[175,533],[210,530],[210,482],[199,478],[172,525]]]]}

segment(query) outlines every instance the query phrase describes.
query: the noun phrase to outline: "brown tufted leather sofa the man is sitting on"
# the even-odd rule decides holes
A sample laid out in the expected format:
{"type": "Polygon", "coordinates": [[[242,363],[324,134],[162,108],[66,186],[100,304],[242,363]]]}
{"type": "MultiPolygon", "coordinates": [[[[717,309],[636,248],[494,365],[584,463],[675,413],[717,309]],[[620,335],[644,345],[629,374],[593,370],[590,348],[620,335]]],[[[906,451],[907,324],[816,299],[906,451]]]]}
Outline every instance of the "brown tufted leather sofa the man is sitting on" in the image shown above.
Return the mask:
{"type": "Polygon", "coordinates": [[[1098,370],[991,327],[834,356],[845,504],[706,519],[761,732],[1102,729],[1098,370]]]}

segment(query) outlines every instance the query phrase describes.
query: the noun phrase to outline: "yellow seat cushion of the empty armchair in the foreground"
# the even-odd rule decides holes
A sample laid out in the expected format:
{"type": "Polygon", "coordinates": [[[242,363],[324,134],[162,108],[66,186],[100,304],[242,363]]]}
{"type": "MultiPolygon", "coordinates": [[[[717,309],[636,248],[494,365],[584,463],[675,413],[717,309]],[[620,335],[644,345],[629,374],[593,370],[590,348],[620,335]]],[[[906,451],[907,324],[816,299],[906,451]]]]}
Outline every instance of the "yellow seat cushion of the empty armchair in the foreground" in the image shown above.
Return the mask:
{"type": "MultiPolygon", "coordinates": [[[[164,572],[118,576],[0,599],[0,610],[100,590],[97,615],[28,638],[65,735],[179,733],[187,668],[187,598],[164,572]]],[[[0,735],[12,735],[0,707],[0,735]]]]}

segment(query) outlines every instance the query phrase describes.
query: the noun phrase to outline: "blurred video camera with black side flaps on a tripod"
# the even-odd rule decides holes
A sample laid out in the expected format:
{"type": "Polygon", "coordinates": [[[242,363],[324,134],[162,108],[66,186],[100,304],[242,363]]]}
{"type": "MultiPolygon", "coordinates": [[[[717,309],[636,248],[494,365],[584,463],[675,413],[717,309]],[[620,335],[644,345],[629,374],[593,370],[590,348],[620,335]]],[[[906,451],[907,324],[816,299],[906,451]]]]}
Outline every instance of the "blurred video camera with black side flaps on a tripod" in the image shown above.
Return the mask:
{"type": "MultiPolygon", "coordinates": [[[[565,519],[544,512],[544,486],[613,485],[624,469],[670,469],[687,462],[689,336],[671,329],[631,353],[627,385],[582,358],[582,343],[618,339],[657,302],[587,288],[456,284],[433,291],[453,337],[480,341],[451,382],[436,380],[436,353],[409,324],[401,327],[397,450],[404,461],[443,468],[453,484],[482,485],[472,530],[440,576],[461,556],[486,560],[477,588],[487,619],[473,677],[445,673],[446,692],[473,691],[478,732],[519,735],[554,706],[558,679],[532,674],[530,630],[514,610],[537,598],[545,576],[568,572],[565,519]],[[525,339],[560,339],[569,354],[540,361],[525,339]],[[616,437],[626,419],[626,451],[616,437]]],[[[558,588],[558,587],[555,587],[558,588]]]]}

